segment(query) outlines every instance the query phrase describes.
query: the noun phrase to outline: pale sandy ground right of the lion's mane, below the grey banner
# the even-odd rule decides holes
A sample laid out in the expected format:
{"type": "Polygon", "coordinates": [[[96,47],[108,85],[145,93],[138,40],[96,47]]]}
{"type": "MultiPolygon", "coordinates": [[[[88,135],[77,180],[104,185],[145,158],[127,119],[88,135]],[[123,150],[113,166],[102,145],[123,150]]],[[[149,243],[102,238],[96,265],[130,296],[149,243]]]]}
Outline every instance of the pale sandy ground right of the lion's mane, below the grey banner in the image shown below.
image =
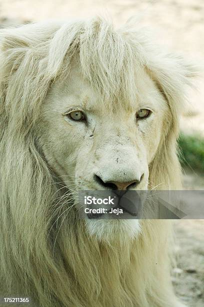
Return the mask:
{"type": "Polygon", "coordinates": [[[204,306],[204,220],[175,222],[175,292],[187,306],[204,306]]]}

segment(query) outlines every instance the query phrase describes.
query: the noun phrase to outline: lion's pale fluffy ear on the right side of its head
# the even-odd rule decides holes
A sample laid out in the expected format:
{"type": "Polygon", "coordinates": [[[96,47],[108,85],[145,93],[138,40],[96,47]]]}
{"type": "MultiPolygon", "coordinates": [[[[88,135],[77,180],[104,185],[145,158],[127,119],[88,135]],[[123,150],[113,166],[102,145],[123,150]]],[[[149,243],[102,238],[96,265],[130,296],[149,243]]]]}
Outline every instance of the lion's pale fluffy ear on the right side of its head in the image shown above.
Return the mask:
{"type": "MultiPolygon", "coordinates": [[[[164,96],[171,111],[181,113],[188,101],[189,88],[196,88],[201,69],[181,56],[165,54],[148,63],[147,72],[164,96]]],[[[174,113],[174,114],[175,114],[174,113]]]]}

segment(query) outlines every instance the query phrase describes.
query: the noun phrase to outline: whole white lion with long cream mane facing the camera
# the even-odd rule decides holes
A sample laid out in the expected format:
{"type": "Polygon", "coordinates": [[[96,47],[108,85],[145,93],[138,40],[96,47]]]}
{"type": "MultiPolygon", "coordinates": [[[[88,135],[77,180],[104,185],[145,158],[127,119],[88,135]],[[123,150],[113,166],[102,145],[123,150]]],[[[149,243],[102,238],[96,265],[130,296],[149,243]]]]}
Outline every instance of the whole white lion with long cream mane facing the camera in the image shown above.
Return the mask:
{"type": "Polygon", "coordinates": [[[179,189],[192,65],[102,19],[0,31],[1,296],[178,307],[166,220],[82,220],[80,190],[179,189]]]}

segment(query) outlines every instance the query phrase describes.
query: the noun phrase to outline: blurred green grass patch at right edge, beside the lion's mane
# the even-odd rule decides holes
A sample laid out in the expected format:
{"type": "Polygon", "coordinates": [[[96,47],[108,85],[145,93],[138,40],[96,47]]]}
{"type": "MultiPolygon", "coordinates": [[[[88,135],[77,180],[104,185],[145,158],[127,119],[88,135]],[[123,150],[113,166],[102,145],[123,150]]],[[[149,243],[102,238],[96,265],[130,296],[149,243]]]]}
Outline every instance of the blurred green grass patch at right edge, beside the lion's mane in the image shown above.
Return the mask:
{"type": "Polygon", "coordinates": [[[204,172],[204,137],[181,133],[178,139],[179,161],[182,167],[204,172]]]}

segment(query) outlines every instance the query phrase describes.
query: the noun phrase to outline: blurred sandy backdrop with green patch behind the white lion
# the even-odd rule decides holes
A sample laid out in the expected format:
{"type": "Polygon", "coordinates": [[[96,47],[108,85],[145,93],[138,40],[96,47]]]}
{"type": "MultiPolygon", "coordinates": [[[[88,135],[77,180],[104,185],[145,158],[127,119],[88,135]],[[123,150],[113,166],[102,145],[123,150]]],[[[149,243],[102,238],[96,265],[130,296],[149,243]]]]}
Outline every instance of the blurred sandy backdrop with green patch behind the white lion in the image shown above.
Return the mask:
{"type": "MultiPolygon", "coordinates": [[[[45,19],[110,17],[118,26],[137,16],[160,43],[173,52],[204,63],[203,0],[0,0],[0,27],[45,19]]],[[[189,103],[180,124],[180,162],[183,189],[204,190],[204,80],[197,92],[189,91],[189,103]]],[[[200,204],[204,206],[203,203],[200,204]]],[[[175,222],[176,253],[173,284],[189,306],[204,306],[204,221],[175,222]]]]}

